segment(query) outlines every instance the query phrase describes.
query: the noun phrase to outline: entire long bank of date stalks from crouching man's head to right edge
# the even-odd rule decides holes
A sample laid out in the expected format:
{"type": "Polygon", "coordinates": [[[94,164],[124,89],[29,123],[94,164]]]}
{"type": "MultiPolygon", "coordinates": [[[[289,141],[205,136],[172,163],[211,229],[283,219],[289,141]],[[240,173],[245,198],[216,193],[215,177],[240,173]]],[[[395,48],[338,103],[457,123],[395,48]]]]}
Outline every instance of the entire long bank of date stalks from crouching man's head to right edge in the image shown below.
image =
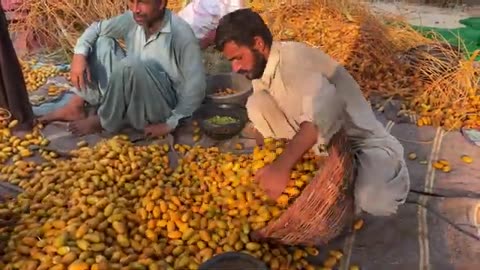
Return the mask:
{"type": "Polygon", "coordinates": [[[345,65],[366,96],[402,98],[400,113],[419,115],[419,125],[480,125],[479,69],[473,58],[445,61],[458,60],[458,50],[437,46],[437,53],[424,52],[406,63],[400,57],[405,51],[444,40],[427,39],[402,18],[375,15],[358,1],[293,2],[258,0],[252,7],[262,13],[277,40],[320,47],[345,65]]]}

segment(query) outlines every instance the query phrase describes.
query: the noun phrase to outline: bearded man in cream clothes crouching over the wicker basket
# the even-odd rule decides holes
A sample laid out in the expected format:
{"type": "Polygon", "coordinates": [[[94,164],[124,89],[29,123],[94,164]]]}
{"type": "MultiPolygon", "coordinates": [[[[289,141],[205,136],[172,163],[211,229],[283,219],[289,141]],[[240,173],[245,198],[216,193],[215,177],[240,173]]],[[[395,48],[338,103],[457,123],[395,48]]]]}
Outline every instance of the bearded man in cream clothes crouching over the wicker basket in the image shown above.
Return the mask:
{"type": "Polygon", "coordinates": [[[328,144],[343,128],[359,166],[357,212],[387,216],[405,202],[410,180],[403,147],[375,118],[344,67],[305,44],[273,42],[265,22],[250,9],[224,16],[215,43],[234,71],[253,80],[247,110],[256,130],[263,137],[291,139],[256,175],[267,195],[280,196],[304,153],[328,144]]]}

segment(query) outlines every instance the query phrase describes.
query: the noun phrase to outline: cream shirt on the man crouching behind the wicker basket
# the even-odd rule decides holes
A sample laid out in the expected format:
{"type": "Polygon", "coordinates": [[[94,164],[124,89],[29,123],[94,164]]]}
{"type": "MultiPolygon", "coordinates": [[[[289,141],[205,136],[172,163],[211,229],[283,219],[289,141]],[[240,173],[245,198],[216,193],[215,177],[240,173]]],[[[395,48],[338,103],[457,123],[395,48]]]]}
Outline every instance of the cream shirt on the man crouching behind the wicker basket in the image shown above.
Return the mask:
{"type": "Polygon", "coordinates": [[[295,130],[302,122],[314,123],[317,146],[328,144],[343,128],[354,149],[387,147],[403,155],[403,147],[376,119],[355,79],[319,49],[274,42],[263,76],[252,83],[254,91],[270,93],[295,130]]]}

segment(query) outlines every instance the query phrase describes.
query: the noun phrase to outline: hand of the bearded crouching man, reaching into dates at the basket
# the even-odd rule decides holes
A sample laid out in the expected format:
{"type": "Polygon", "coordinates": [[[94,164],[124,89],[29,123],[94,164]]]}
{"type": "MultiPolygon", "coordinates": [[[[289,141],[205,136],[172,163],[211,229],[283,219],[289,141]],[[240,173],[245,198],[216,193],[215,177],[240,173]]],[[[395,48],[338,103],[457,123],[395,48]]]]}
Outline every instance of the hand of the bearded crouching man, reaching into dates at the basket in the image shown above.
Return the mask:
{"type": "Polygon", "coordinates": [[[258,170],[255,174],[255,180],[260,183],[260,187],[268,197],[276,200],[287,187],[290,180],[290,170],[285,166],[280,166],[279,163],[273,162],[258,170]]]}

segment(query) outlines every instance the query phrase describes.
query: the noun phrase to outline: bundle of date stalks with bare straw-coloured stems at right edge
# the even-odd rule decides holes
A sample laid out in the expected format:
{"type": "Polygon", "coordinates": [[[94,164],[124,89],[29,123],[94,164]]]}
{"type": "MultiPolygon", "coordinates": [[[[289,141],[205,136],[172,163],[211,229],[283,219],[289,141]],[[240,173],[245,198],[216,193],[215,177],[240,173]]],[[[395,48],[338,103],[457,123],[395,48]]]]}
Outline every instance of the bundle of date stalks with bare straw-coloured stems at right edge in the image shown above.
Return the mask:
{"type": "MultiPolygon", "coordinates": [[[[398,48],[419,35],[405,26],[388,30],[390,37],[397,38],[398,48]]],[[[463,44],[457,48],[440,45],[446,41],[439,36],[430,44],[425,43],[411,42],[410,49],[402,55],[414,57],[414,61],[402,64],[414,71],[409,76],[415,78],[418,86],[411,89],[405,109],[416,113],[419,126],[442,126],[447,130],[480,126],[480,68],[475,64],[479,52],[464,58],[463,44]]]]}

